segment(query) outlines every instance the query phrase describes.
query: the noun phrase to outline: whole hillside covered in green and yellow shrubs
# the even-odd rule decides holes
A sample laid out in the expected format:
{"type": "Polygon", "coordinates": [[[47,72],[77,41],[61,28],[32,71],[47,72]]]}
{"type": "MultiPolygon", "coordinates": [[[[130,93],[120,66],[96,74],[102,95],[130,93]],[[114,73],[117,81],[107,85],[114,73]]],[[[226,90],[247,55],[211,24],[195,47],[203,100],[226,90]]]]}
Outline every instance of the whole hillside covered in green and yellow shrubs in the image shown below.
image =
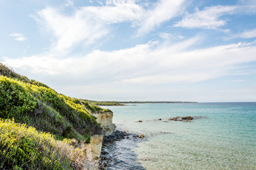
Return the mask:
{"type": "Polygon", "coordinates": [[[2,63],[0,96],[1,169],[79,169],[81,161],[74,160],[84,155],[81,146],[102,134],[91,113],[105,109],[58,94],[2,63]],[[76,155],[53,154],[64,150],[76,155]]]}

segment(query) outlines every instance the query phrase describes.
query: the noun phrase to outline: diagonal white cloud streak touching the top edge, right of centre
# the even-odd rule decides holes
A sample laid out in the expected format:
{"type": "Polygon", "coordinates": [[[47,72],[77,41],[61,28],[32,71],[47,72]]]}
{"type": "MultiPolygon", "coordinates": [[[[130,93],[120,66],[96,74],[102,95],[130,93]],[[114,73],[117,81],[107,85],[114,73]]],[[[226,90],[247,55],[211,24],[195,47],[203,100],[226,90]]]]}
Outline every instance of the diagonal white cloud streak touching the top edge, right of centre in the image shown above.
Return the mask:
{"type": "Polygon", "coordinates": [[[159,1],[152,11],[149,11],[149,16],[142,22],[138,35],[143,35],[160,26],[161,23],[170,20],[178,15],[185,0],[162,0],[159,1]]]}

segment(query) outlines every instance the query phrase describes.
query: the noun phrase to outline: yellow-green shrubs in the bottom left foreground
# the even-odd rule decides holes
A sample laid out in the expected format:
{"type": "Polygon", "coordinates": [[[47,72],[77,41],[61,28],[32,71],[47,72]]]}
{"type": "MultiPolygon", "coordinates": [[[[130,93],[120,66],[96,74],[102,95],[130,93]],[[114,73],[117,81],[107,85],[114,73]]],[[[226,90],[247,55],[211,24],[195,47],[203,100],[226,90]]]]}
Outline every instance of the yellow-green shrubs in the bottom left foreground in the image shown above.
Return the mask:
{"type": "Polygon", "coordinates": [[[57,141],[49,133],[0,119],[1,169],[82,169],[83,148],[57,141]]]}

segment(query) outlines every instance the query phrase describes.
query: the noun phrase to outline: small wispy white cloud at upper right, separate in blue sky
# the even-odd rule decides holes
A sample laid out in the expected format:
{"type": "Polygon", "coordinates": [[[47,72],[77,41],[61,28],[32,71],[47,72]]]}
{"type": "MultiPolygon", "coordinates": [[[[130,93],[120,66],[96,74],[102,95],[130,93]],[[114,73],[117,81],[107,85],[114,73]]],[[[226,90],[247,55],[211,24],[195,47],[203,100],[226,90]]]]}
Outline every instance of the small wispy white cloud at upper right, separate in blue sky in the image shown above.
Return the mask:
{"type": "Polygon", "coordinates": [[[219,17],[232,14],[234,10],[236,10],[234,6],[220,5],[205,7],[202,11],[195,8],[194,14],[186,13],[181,21],[174,24],[174,27],[218,29],[226,24],[226,20],[221,20],[219,17]]]}

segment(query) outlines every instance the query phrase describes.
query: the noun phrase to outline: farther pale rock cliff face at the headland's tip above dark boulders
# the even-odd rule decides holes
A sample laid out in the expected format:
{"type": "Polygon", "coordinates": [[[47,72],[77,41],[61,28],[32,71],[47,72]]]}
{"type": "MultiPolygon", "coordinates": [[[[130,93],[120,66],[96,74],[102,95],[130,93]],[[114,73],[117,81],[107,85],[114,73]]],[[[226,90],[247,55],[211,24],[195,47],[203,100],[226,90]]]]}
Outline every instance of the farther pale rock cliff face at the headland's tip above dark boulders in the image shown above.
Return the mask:
{"type": "Polygon", "coordinates": [[[114,133],[116,129],[116,125],[112,122],[113,113],[112,112],[94,112],[92,114],[97,119],[96,121],[100,124],[100,127],[102,127],[104,136],[109,136],[112,133],[114,133]]]}

